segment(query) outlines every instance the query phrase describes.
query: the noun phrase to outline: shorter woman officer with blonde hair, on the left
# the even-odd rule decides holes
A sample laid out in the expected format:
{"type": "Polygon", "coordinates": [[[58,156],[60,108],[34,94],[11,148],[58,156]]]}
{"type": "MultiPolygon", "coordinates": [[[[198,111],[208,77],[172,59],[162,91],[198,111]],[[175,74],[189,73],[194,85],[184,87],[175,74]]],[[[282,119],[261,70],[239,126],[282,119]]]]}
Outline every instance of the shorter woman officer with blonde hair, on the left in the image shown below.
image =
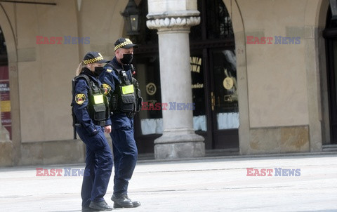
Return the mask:
{"type": "MultiPolygon", "coordinates": [[[[112,153],[104,135],[109,112],[97,77],[107,60],[97,52],[84,56],[74,78],[72,98],[77,133],[86,144],[86,168],[81,188],[82,211],[111,211],[104,195],[112,173],[112,153]]],[[[108,124],[108,123],[107,123],[108,124]]],[[[109,124],[110,125],[110,124],[109,124]]],[[[111,128],[106,131],[110,132],[111,128]]]]}

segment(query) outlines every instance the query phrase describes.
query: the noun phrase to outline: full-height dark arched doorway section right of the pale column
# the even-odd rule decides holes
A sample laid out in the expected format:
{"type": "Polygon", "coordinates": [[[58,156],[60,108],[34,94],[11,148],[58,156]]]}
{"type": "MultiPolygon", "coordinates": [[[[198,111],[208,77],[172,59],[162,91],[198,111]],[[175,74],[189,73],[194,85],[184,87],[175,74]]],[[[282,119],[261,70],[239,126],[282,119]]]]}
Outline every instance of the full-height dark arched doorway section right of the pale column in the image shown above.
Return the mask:
{"type": "Polygon", "coordinates": [[[239,105],[232,21],[222,0],[198,0],[198,10],[201,23],[192,27],[190,33],[192,97],[196,104],[194,130],[204,136],[206,150],[239,151],[239,105]],[[195,58],[199,59],[200,72],[193,70],[195,58]]]}

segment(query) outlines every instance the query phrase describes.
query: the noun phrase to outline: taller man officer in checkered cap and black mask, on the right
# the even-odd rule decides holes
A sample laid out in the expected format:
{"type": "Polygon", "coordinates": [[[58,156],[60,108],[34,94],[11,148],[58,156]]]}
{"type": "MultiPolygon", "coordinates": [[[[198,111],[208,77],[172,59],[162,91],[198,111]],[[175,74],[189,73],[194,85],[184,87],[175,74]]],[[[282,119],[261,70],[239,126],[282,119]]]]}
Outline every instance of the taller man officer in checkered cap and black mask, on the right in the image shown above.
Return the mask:
{"type": "Polygon", "coordinates": [[[130,39],[120,38],[114,44],[115,57],[104,67],[100,81],[110,100],[114,154],[114,192],[111,197],[114,208],[133,208],[139,201],[128,198],[128,181],[136,166],[138,150],[133,133],[133,116],[141,105],[140,91],[132,77],[133,44],[130,39]]]}

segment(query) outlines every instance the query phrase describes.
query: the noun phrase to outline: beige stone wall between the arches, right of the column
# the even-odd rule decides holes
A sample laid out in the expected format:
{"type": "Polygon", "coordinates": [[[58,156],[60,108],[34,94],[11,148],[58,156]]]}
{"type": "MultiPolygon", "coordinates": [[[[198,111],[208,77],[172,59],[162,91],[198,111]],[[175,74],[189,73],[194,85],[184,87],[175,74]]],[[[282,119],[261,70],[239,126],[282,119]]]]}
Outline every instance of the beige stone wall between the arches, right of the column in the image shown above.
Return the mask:
{"type": "Polygon", "coordinates": [[[240,152],[322,151],[322,29],[329,2],[235,3],[240,152]],[[246,36],[300,37],[300,44],[246,44],[246,36]]]}

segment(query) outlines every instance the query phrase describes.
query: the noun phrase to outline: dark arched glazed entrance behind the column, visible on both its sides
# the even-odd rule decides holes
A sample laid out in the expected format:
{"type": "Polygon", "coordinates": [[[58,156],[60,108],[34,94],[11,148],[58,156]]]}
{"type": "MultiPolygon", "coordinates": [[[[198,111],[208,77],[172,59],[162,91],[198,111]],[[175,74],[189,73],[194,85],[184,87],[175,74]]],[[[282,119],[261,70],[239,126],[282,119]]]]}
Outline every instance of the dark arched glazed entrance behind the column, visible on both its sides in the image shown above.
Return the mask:
{"type": "MultiPolygon", "coordinates": [[[[190,64],[194,131],[204,136],[206,150],[239,151],[239,105],[234,34],[230,15],[222,0],[198,0],[200,25],[190,29],[190,64]]],[[[146,20],[147,1],[138,5],[146,20]]],[[[161,102],[157,30],[141,22],[135,50],[136,78],[143,100],[161,102]]],[[[141,110],[135,117],[138,152],[153,153],[161,136],[160,110],[141,110]]]]}

